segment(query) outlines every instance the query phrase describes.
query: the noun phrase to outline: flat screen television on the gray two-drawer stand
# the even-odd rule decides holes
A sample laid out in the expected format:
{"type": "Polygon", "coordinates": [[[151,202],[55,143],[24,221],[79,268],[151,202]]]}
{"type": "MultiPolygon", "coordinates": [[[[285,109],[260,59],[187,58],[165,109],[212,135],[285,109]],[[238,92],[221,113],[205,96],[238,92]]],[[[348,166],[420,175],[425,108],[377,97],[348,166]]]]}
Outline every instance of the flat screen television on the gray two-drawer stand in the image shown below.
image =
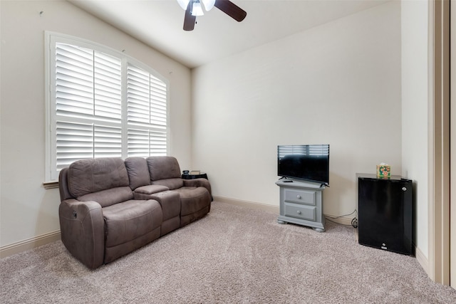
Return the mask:
{"type": "Polygon", "coordinates": [[[329,185],[329,145],[277,146],[277,175],[329,185]]]}

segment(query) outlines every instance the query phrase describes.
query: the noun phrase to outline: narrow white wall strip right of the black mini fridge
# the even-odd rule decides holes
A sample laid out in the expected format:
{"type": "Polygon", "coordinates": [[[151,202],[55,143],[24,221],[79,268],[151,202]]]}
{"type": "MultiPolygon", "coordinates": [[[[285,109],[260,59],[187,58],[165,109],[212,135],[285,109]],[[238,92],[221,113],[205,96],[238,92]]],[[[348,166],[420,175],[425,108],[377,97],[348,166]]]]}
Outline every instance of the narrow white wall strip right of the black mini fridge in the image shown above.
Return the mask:
{"type": "MultiPolygon", "coordinates": [[[[427,1],[402,1],[403,176],[414,181],[415,246],[427,252],[427,1]]],[[[420,254],[420,253],[418,253],[420,254]]]]}

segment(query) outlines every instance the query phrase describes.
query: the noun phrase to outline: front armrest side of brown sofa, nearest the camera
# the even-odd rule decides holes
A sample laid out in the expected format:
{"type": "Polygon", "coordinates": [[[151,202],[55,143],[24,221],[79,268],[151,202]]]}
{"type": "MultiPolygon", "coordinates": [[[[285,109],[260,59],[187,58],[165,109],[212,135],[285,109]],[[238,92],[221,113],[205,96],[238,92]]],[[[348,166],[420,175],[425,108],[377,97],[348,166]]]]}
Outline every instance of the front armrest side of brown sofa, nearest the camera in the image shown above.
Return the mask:
{"type": "Polygon", "coordinates": [[[103,264],[103,211],[96,201],[63,200],[58,207],[61,239],[68,251],[88,268],[103,264]]]}

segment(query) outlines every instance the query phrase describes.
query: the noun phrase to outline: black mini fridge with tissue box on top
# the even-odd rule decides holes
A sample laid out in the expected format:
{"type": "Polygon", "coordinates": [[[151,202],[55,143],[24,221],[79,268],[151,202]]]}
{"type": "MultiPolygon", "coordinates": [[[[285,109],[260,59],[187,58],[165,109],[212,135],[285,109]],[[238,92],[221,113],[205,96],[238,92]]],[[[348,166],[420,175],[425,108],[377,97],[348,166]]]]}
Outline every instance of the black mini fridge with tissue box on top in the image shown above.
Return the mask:
{"type": "Polygon", "coordinates": [[[358,243],[413,254],[413,182],[400,176],[357,176],[358,243]]]}

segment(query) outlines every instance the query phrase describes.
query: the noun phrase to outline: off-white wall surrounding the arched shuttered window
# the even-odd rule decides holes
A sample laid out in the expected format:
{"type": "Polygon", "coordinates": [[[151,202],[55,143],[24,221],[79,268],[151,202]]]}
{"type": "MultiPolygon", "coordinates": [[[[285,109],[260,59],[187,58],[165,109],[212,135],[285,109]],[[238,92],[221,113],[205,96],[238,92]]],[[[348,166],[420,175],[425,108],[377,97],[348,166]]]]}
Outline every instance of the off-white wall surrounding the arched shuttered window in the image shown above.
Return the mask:
{"type": "Polygon", "coordinates": [[[60,229],[44,182],[44,31],[125,50],[170,80],[170,154],[191,163],[190,70],[66,1],[0,1],[0,248],[60,229]],[[43,11],[40,16],[40,11],[43,11]]]}

